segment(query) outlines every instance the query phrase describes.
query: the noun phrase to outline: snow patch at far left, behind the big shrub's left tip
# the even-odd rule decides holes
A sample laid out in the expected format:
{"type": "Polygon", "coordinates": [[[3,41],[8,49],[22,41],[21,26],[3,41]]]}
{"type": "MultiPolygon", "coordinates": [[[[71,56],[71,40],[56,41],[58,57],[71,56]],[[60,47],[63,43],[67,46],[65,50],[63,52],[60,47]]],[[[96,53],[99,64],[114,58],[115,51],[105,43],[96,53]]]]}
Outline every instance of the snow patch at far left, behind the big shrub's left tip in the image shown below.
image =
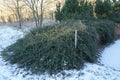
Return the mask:
{"type": "Polygon", "coordinates": [[[15,28],[2,26],[0,27],[0,51],[15,43],[16,40],[23,37],[23,32],[15,28]]]}

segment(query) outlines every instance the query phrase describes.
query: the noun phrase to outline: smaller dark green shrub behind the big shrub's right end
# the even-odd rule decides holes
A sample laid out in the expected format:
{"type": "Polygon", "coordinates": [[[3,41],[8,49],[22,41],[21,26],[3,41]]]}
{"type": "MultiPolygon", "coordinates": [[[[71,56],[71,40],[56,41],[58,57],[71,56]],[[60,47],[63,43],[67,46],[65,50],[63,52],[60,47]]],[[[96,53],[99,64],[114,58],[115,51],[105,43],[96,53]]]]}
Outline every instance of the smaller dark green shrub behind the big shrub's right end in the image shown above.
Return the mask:
{"type": "Polygon", "coordinates": [[[115,24],[110,21],[98,23],[97,32],[100,35],[101,44],[111,43],[115,39],[115,24]]]}

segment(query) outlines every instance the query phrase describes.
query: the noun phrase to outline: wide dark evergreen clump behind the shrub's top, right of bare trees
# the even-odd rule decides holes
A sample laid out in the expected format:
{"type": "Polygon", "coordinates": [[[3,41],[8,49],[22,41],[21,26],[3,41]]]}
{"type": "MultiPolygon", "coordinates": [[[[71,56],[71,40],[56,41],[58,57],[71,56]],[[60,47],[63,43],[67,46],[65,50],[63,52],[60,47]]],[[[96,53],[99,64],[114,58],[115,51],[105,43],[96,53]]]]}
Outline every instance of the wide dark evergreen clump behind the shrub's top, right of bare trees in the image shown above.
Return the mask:
{"type": "Polygon", "coordinates": [[[93,16],[93,5],[85,0],[66,0],[62,9],[56,7],[55,17],[59,21],[93,16]]]}

